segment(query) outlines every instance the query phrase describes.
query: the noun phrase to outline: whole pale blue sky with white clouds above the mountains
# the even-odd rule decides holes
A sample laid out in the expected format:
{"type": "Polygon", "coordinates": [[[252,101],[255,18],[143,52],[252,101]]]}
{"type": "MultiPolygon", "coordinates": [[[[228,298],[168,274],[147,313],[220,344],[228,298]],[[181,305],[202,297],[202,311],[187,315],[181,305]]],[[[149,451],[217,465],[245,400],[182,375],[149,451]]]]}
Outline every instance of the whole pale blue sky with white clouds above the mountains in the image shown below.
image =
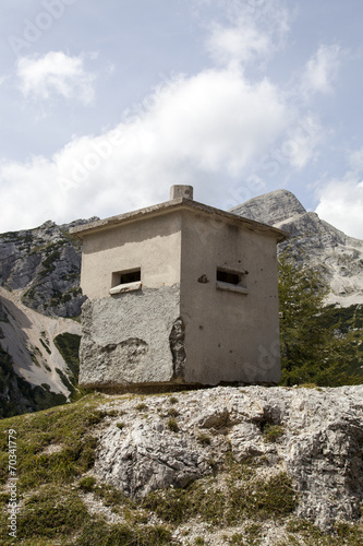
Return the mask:
{"type": "Polygon", "coordinates": [[[285,188],[363,238],[362,0],[1,0],[0,232],[285,188]]]}

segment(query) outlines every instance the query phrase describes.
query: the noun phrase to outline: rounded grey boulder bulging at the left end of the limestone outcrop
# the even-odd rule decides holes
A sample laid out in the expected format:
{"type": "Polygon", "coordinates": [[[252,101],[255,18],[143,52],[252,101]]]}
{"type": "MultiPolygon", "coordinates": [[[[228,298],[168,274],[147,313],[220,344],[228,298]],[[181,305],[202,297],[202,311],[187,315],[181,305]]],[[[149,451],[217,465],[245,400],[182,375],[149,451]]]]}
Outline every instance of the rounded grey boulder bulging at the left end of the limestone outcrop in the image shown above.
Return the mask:
{"type": "Polygon", "coordinates": [[[96,473],[132,497],[185,487],[208,471],[203,449],[166,430],[161,419],[136,419],[126,430],[110,428],[101,439],[96,473]],[[104,454],[105,456],[104,456],[104,454]]]}

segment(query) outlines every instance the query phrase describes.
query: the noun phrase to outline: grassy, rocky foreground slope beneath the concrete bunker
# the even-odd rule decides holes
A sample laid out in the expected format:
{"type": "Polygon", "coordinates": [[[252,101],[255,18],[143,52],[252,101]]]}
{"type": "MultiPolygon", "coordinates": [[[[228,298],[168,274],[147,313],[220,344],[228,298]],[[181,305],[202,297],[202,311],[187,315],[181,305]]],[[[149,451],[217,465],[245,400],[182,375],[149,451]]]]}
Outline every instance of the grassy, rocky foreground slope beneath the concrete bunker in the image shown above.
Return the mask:
{"type": "Polygon", "coordinates": [[[1,450],[13,429],[22,461],[16,538],[25,546],[359,546],[362,400],[363,385],[219,387],[96,394],[0,422],[1,450]]]}

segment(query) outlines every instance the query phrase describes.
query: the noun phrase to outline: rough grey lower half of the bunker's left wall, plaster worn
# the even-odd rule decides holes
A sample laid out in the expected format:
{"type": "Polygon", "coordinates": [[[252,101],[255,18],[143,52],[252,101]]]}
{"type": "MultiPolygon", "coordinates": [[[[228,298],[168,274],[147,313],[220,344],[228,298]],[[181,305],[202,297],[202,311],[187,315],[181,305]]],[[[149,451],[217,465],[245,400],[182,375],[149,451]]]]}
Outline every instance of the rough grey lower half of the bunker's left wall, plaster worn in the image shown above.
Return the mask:
{"type": "Polygon", "coordinates": [[[177,284],[87,300],[82,325],[81,387],[160,383],[183,376],[177,284]]]}

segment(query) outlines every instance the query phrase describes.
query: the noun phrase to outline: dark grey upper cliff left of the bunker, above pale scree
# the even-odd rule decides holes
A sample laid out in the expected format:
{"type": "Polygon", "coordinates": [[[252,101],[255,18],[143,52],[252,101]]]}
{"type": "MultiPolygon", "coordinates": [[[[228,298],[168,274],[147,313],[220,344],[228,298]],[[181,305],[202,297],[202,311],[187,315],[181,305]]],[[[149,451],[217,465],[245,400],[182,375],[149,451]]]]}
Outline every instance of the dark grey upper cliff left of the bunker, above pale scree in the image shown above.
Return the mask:
{"type": "MultiPolygon", "coordinates": [[[[94,219],[94,218],[92,218],[94,219]]],[[[76,221],[0,235],[0,285],[50,317],[76,317],[84,297],[80,289],[81,245],[69,234],[76,221]]]]}

